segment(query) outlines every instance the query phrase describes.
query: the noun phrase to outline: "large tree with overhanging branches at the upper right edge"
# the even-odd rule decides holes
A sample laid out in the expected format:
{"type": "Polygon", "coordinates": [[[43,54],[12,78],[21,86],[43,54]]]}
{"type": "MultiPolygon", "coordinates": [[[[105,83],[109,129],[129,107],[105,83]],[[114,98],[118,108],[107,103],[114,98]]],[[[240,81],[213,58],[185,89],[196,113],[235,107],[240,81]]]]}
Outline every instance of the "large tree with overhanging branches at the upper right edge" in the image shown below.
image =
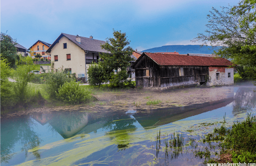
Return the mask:
{"type": "Polygon", "coordinates": [[[236,6],[212,8],[205,30],[193,41],[222,46],[216,55],[231,59],[244,79],[256,79],[256,0],[241,0],[236,6]]]}

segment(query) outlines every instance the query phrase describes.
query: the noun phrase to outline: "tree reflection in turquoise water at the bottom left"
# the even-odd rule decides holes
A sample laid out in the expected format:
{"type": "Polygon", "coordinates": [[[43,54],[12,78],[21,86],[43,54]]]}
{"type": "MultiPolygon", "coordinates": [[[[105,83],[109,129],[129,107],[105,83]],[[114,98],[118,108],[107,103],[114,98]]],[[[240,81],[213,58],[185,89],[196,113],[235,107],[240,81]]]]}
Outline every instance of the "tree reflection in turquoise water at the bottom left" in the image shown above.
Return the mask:
{"type": "MultiPolygon", "coordinates": [[[[8,163],[15,154],[14,146],[18,142],[22,145],[21,151],[25,152],[25,157],[28,156],[29,149],[39,146],[41,139],[32,130],[33,125],[35,123],[32,119],[25,116],[8,119],[8,123],[1,122],[1,163],[8,163]]],[[[40,158],[39,152],[34,152],[33,155],[40,158]]]]}

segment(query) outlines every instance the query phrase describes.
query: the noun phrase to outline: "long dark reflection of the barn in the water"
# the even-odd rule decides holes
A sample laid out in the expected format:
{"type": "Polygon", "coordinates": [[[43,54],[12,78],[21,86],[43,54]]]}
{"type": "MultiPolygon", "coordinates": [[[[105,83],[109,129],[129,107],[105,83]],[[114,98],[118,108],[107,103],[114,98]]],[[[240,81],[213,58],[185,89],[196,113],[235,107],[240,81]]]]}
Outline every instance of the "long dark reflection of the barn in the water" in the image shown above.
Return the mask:
{"type": "Polygon", "coordinates": [[[234,100],[233,96],[233,88],[230,88],[229,94],[227,94],[226,99],[207,102],[203,104],[194,104],[192,106],[185,107],[162,108],[152,111],[137,110],[137,113],[133,114],[133,117],[135,117],[135,119],[144,128],[150,126],[169,124],[181,119],[185,119],[191,116],[195,116],[201,113],[225,107],[234,100]]]}

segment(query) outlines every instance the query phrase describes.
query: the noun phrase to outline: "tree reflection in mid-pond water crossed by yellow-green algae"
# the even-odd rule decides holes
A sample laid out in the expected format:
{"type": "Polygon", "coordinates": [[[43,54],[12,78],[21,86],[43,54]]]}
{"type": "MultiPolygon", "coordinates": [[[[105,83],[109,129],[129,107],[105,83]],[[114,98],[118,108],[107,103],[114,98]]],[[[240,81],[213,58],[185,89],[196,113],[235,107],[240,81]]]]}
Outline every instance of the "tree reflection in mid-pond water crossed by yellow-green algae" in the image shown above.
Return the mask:
{"type": "Polygon", "coordinates": [[[137,127],[134,125],[137,121],[131,118],[129,115],[112,117],[112,122],[106,124],[104,128],[110,131],[107,135],[111,140],[114,140],[117,144],[117,148],[120,150],[125,150],[128,148],[131,138],[131,132],[135,131],[137,127]]]}

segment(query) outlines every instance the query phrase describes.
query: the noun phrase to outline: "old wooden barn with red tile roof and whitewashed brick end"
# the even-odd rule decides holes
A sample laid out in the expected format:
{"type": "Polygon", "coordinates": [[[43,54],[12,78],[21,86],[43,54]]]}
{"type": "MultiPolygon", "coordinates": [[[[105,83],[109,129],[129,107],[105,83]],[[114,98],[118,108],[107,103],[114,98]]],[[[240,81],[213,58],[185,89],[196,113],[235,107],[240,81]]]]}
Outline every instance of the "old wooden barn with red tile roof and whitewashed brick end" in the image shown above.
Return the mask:
{"type": "Polygon", "coordinates": [[[137,87],[234,83],[232,63],[224,58],[143,52],[135,61],[137,87]]]}

